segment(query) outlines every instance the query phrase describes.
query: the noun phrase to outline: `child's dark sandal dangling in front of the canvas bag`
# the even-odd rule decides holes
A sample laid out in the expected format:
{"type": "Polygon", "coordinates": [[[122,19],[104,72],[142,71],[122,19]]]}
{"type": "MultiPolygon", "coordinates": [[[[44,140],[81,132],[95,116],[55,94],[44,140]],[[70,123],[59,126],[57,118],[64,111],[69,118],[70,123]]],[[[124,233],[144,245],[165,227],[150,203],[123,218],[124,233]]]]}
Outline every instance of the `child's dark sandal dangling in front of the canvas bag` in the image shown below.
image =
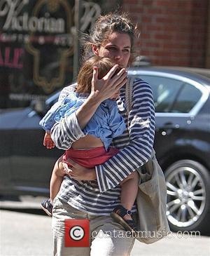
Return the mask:
{"type": "Polygon", "coordinates": [[[137,224],[134,222],[134,220],[123,219],[123,217],[127,214],[131,215],[131,211],[125,209],[123,206],[117,206],[111,212],[111,217],[113,220],[116,220],[116,222],[120,223],[125,228],[125,230],[135,233],[138,232],[137,224]]]}

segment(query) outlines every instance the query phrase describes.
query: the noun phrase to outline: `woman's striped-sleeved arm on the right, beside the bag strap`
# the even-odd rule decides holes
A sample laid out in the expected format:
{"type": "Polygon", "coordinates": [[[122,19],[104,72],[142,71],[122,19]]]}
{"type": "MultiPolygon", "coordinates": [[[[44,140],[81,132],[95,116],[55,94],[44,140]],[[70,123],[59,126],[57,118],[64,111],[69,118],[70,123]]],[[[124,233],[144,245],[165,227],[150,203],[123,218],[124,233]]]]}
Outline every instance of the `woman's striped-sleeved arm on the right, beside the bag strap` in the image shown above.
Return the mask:
{"type": "Polygon", "coordinates": [[[116,187],[151,158],[155,135],[155,108],[151,87],[144,81],[134,81],[129,119],[130,144],[109,161],[95,168],[100,191],[116,187]]]}

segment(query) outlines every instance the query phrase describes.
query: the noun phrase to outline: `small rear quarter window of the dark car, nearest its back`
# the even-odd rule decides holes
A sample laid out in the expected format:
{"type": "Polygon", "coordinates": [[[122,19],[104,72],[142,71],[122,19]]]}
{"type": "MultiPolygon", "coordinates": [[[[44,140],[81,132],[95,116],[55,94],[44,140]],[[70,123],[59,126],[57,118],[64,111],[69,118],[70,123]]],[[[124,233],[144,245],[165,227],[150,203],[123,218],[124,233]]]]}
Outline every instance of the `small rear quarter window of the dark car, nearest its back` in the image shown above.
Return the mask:
{"type": "Polygon", "coordinates": [[[176,102],[172,107],[172,112],[174,113],[188,113],[195,106],[198,100],[202,97],[202,92],[195,86],[189,83],[185,83],[176,102]]]}

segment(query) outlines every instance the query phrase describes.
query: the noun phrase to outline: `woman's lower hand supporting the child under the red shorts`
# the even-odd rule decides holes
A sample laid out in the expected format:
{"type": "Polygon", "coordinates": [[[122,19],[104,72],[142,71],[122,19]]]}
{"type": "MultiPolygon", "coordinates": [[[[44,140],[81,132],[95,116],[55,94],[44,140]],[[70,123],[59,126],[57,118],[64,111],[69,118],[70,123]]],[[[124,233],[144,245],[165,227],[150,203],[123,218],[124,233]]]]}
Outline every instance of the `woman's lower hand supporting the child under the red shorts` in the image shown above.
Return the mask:
{"type": "Polygon", "coordinates": [[[71,166],[63,162],[64,171],[74,180],[96,180],[97,177],[94,168],[87,169],[71,159],[67,159],[67,161],[71,166]]]}

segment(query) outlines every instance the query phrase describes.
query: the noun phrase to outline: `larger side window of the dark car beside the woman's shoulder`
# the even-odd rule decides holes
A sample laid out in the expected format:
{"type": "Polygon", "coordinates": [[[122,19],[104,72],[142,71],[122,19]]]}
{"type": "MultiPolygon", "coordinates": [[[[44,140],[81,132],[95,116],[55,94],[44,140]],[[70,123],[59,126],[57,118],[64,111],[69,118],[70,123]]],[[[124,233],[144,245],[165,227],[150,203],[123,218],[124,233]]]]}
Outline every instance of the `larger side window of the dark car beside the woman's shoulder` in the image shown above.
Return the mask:
{"type": "Polygon", "coordinates": [[[139,78],[151,85],[155,102],[155,112],[172,112],[176,95],[181,90],[183,82],[160,76],[141,75],[139,78]]]}

